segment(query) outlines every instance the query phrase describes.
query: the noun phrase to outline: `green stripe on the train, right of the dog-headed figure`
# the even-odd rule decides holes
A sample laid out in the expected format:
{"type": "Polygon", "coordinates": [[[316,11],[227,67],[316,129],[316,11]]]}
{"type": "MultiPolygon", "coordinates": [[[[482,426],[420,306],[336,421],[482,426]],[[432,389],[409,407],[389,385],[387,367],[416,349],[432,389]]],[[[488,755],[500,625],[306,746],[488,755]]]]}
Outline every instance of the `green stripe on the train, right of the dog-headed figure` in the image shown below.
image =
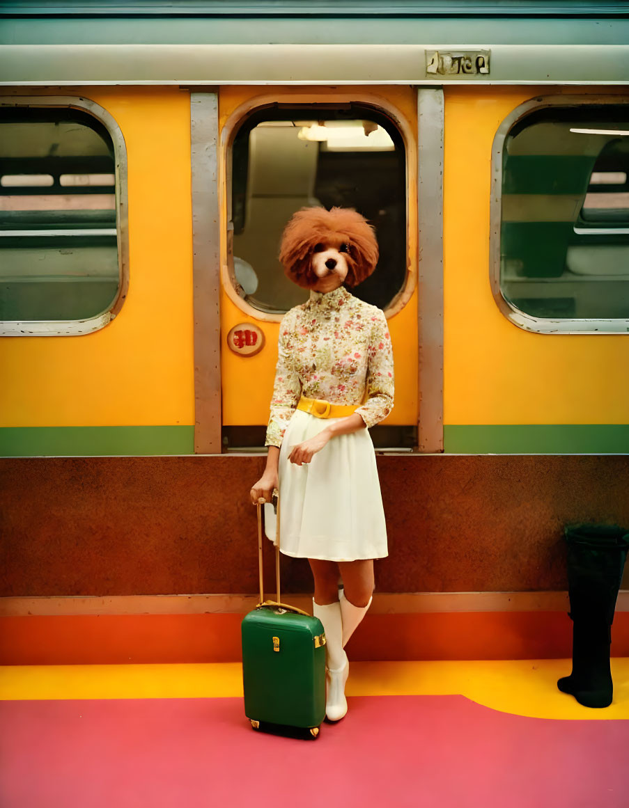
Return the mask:
{"type": "Polygon", "coordinates": [[[445,426],[450,454],[629,454],[629,424],[445,426]]]}

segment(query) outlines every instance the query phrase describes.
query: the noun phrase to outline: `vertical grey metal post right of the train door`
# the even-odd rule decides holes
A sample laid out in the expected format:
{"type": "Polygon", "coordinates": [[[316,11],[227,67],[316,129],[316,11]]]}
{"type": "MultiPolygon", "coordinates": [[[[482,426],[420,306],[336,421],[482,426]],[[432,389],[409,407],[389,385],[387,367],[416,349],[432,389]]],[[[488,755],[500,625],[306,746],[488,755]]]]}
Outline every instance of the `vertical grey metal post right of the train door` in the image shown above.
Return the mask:
{"type": "Polygon", "coordinates": [[[443,452],[443,88],[417,90],[420,452],[443,452]]]}

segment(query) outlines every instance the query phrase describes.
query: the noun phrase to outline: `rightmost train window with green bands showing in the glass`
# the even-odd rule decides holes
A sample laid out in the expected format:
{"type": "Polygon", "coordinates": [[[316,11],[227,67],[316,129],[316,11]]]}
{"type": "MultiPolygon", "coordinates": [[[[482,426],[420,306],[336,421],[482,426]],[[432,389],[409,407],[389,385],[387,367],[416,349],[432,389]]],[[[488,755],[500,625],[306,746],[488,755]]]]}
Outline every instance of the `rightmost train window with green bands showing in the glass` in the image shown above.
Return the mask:
{"type": "Polygon", "coordinates": [[[521,116],[494,152],[500,295],[530,330],[627,331],[629,104],[563,103],[521,116]]]}

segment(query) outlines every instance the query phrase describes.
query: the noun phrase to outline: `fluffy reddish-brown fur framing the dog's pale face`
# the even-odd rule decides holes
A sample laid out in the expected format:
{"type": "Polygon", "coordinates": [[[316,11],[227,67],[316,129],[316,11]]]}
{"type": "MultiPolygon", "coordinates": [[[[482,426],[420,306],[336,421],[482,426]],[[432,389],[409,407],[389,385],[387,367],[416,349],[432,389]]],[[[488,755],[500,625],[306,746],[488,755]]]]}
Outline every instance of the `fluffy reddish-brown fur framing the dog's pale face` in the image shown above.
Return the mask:
{"type": "Polygon", "coordinates": [[[317,282],[312,270],[315,245],[348,245],[345,286],[356,286],[369,277],[378,263],[374,229],[351,208],[302,208],[286,225],[281,238],[280,261],[290,280],[310,288],[317,282]]]}

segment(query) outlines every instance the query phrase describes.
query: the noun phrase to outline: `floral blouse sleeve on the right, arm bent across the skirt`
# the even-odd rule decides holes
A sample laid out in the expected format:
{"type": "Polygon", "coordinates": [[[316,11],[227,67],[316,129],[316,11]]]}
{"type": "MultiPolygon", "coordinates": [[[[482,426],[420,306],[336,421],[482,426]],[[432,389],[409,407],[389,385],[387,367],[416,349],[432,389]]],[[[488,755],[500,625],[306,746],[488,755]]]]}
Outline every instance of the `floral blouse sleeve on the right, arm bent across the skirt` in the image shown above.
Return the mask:
{"type": "Polygon", "coordinates": [[[393,409],[393,351],[389,327],[380,310],[378,317],[374,318],[374,328],[371,332],[365,387],[365,403],[356,411],[369,428],[385,419],[393,409]]]}

